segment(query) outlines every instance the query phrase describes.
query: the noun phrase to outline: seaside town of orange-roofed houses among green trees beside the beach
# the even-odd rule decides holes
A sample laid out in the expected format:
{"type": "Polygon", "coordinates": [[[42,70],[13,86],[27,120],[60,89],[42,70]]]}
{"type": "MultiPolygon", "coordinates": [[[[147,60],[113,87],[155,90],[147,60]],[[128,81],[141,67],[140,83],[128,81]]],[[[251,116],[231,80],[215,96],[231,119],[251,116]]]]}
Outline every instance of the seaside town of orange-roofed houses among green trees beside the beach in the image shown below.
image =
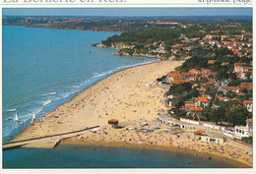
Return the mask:
{"type": "MultiPolygon", "coordinates": [[[[181,33],[172,44],[167,41],[127,44],[123,34],[120,38],[108,38],[98,46],[118,48],[117,53],[122,56],[172,60],[186,57],[175,71],[157,79],[157,84],[165,88],[160,102],[167,108],[167,112],[158,113],[160,123],[194,130],[196,140],[234,146],[252,155],[252,33],[237,30],[241,26],[241,23],[229,23],[208,32],[198,27],[204,36],[188,37],[181,33]]],[[[194,28],[194,25],[182,28],[194,28]]]]}

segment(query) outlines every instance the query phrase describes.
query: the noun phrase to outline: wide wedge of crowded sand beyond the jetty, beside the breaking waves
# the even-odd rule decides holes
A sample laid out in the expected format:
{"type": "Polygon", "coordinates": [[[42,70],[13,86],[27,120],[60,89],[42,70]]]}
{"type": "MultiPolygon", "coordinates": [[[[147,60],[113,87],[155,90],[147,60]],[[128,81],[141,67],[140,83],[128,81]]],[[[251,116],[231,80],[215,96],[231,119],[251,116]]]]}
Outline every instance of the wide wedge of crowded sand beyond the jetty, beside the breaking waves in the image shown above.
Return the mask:
{"type": "Polygon", "coordinates": [[[13,141],[102,127],[112,118],[119,122],[156,119],[164,108],[159,102],[163,89],[156,87],[156,79],[179,65],[181,62],[165,61],[115,73],[41,117],[13,141]]]}

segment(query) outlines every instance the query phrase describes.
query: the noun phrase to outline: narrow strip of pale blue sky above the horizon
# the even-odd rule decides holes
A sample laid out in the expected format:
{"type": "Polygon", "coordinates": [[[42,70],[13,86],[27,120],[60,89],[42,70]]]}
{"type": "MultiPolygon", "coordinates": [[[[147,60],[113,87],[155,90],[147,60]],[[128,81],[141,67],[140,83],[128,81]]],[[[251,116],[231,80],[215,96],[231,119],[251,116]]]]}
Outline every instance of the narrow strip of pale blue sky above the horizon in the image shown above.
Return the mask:
{"type": "Polygon", "coordinates": [[[3,9],[4,16],[252,16],[252,8],[3,9]]]}

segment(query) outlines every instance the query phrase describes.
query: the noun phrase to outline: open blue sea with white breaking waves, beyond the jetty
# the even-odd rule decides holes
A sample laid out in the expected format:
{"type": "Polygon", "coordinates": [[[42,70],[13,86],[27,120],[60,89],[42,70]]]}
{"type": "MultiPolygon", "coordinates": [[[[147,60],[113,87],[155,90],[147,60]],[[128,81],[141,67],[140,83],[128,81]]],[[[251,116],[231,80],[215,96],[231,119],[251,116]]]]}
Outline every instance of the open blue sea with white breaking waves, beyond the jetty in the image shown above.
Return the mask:
{"type": "Polygon", "coordinates": [[[118,32],[3,27],[3,141],[86,87],[156,59],[115,56],[93,43],[118,32]],[[20,122],[14,122],[17,113],[20,122]]]}

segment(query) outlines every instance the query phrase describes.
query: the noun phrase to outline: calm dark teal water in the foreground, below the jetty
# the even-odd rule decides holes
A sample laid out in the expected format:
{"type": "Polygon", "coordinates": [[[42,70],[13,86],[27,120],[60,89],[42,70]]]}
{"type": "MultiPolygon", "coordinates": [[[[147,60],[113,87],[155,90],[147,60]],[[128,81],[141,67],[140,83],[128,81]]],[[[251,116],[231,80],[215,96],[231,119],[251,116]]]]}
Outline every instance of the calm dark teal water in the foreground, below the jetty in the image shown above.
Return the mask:
{"type": "Polygon", "coordinates": [[[18,148],[3,151],[3,168],[234,168],[182,152],[103,146],[60,145],[53,149],[18,148]]]}

